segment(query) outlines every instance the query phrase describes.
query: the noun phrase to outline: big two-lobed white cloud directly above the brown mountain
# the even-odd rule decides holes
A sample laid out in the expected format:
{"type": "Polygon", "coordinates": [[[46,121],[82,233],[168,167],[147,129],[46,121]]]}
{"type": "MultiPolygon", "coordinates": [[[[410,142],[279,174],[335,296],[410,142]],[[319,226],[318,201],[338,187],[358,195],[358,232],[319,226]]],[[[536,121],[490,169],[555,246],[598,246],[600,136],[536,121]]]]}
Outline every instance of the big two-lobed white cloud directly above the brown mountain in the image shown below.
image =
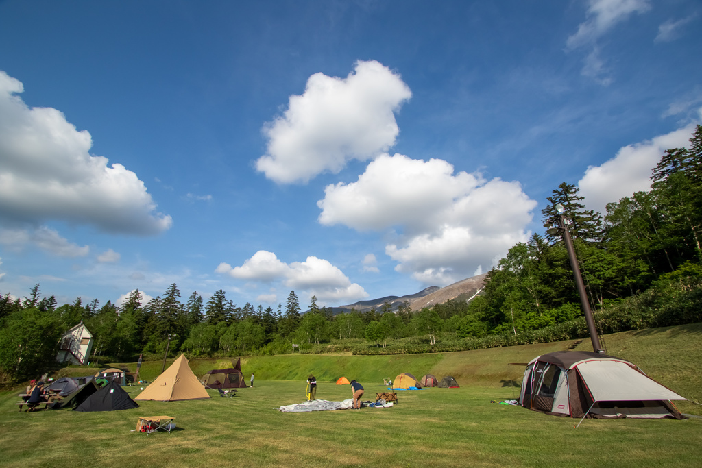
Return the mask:
{"type": "Polygon", "coordinates": [[[319,222],[357,230],[399,228],[385,253],[399,272],[445,286],[489,269],[527,239],[536,201],[518,182],[453,173],[442,159],[384,154],[357,182],[329,185],[319,222]]]}

